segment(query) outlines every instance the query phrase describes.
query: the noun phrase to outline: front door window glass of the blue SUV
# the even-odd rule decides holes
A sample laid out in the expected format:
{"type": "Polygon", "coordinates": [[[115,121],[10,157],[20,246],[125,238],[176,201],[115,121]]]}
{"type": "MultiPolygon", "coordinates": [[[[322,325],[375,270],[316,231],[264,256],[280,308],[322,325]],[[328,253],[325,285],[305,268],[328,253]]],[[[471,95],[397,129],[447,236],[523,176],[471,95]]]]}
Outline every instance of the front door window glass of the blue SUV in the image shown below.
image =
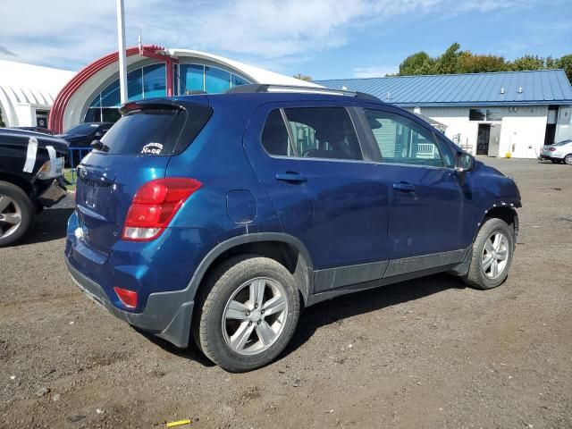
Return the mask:
{"type": "Polygon", "coordinates": [[[431,131],[399,114],[369,109],[365,113],[383,163],[443,165],[431,131]]]}

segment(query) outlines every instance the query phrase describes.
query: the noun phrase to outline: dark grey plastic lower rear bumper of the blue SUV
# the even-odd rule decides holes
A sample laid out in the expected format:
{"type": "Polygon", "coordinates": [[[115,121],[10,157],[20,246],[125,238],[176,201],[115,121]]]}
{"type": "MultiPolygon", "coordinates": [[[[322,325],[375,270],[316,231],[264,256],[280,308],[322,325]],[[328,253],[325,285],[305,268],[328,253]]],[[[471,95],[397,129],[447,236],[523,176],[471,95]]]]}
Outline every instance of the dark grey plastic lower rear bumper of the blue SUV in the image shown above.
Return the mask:
{"type": "Polygon", "coordinates": [[[142,313],[130,313],[115,307],[105,290],[74,268],[67,258],[66,264],[71,278],[80,290],[116,317],[143,331],[153,333],[177,347],[184,348],[189,345],[190,319],[194,302],[187,300],[188,290],[152,293],[142,313]]]}

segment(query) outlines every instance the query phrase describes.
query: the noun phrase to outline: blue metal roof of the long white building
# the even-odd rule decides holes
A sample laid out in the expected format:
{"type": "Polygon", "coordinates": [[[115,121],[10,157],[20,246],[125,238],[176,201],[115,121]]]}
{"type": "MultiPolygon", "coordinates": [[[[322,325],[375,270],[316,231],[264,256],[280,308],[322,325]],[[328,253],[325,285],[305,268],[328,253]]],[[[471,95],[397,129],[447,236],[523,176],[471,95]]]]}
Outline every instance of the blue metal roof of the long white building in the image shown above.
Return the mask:
{"type": "Polygon", "coordinates": [[[360,91],[402,106],[572,105],[563,70],[315,80],[326,88],[360,91]],[[519,88],[522,88],[519,92],[519,88]]]}

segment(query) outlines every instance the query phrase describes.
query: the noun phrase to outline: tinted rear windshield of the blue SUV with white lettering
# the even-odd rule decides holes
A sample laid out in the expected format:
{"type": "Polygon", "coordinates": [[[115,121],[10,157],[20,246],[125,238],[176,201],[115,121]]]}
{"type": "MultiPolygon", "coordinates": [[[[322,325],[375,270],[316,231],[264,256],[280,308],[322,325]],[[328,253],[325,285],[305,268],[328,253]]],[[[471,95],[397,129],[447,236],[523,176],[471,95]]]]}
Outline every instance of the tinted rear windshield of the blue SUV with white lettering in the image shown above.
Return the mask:
{"type": "Polygon", "coordinates": [[[130,112],[101,139],[108,154],[171,156],[181,153],[208,121],[211,109],[152,108],[130,112]]]}

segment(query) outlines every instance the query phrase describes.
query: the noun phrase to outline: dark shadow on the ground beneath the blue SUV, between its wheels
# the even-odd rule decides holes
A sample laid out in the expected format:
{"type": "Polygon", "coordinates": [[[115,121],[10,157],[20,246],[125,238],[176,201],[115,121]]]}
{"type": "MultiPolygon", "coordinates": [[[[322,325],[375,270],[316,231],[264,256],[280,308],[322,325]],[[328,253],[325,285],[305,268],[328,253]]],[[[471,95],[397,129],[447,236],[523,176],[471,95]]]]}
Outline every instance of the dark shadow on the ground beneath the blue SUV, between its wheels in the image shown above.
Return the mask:
{"type": "Polygon", "coordinates": [[[301,347],[322,326],[339,322],[353,315],[364,315],[385,307],[425,298],[443,290],[461,290],[465,287],[465,284],[457,277],[441,273],[321,302],[302,312],[298,328],[290,344],[282,353],[282,357],[301,347]]]}

